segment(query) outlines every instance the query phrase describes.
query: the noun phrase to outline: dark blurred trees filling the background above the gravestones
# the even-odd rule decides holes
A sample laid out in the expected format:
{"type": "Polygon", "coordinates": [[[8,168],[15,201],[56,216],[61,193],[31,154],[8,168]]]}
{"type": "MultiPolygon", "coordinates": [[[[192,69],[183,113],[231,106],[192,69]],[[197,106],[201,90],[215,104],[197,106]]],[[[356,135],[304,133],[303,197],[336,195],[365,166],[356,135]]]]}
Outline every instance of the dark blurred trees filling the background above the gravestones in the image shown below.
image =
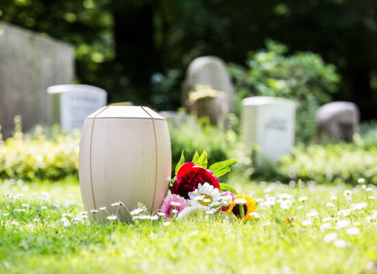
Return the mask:
{"type": "Polygon", "coordinates": [[[325,101],[352,101],[363,120],[377,118],[376,12],[374,0],[0,3],[1,21],[75,45],[75,82],[104,88],[110,102],[175,110],[194,58],[247,68],[271,39],[287,46],[284,55],[311,51],[333,64],[334,72],[319,72],[337,78],[324,84],[325,101]]]}

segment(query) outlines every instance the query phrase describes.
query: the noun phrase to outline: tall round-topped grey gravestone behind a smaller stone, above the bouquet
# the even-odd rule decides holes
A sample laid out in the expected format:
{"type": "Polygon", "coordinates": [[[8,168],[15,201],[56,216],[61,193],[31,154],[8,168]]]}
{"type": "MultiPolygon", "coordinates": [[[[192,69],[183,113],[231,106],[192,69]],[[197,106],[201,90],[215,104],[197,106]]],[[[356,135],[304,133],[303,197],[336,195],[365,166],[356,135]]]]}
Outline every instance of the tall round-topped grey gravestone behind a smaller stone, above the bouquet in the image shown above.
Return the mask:
{"type": "Polygon", "coordinates": [[[182,104],[187,112],[192,110],[189,92],[195,92],[198,84],[225,92],[221,111],[227,114],[233,110],[234,87],[223,60],[216,56],[203,56],[191,62],[182,86],[182,104]]]}

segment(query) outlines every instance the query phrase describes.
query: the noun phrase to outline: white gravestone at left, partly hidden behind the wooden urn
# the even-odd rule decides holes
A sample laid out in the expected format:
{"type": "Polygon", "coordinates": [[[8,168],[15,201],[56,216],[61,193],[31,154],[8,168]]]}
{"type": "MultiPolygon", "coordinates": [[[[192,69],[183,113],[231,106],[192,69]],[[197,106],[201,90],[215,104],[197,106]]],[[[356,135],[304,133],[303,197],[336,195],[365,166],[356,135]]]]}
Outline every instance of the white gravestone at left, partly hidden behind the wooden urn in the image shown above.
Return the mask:
{"type": "Polygon", "coordinates": [[[107,92],[88,85],[58,85],[47,88],[49,123],[60,123],[64,132],[81,129],[86,116],[106,105],[107,92]]]}

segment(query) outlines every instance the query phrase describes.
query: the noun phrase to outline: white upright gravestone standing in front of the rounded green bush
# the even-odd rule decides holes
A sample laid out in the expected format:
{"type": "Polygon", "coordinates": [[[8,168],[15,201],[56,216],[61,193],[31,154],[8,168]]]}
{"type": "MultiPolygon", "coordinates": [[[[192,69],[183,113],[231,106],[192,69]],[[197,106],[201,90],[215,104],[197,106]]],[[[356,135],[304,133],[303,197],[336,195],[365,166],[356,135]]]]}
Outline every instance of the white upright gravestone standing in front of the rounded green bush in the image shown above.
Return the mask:
{"type": "Polygon", "coordinates": [[[295,103],[276,97],[248,97],[242,101],[242,134],[250,149],[278,160],[295,142],[295,103]]]}

